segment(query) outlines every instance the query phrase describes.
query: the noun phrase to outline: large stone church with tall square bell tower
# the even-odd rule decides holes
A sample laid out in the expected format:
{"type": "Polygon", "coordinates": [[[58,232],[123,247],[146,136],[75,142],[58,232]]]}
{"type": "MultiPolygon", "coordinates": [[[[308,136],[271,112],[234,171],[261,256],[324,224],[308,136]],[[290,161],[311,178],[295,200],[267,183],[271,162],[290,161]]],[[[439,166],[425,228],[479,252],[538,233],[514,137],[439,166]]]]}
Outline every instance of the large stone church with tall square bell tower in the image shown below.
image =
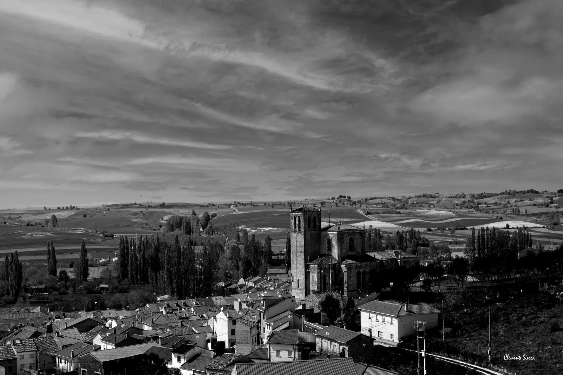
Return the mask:
{"type": "Polygon", "coordinates": [[[419,257],[403,251],[366,252],[368,229],[321,225],[321,209],[303,206],[289,213],[292,291],[297,299],[336,291],[357,298],[382,267],[412,266],[419,257]]]}

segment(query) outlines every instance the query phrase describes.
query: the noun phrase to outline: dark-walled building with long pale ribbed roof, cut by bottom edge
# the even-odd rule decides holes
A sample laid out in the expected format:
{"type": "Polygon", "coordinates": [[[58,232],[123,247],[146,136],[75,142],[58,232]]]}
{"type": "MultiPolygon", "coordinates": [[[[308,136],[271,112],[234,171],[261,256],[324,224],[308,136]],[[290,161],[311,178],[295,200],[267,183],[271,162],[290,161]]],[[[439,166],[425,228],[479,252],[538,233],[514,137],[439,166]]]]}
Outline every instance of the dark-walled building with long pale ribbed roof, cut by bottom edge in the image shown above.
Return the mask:
{"type": "Polygon", "coordinates": [[[151,347],[159,347],[156,342],[117,347],[115,349],[91,351],[78,356],[79,374],[111,375],[125,373],[126,369],[136,368],[138,356],[147,353],[151,347]]]}

